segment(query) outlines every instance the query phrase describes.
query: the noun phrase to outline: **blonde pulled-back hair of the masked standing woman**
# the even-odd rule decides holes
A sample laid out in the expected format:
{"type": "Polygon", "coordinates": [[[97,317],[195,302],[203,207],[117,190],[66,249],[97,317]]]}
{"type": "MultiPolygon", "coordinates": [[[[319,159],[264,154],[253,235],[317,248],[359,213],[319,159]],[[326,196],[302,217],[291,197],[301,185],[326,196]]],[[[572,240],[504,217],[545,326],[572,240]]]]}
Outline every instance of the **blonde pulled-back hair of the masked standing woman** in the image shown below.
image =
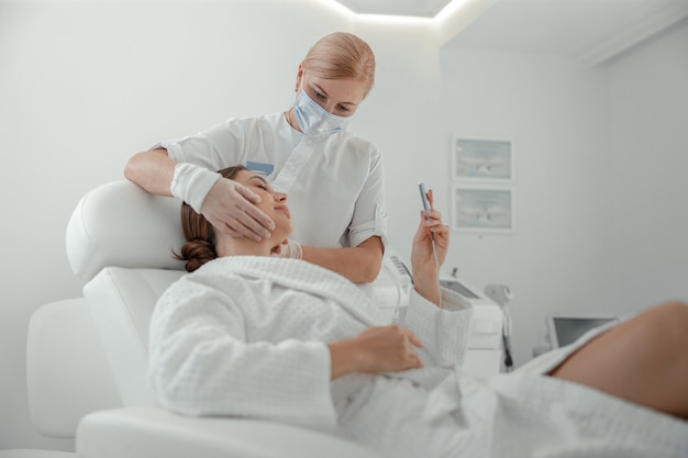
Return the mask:
{"type": "Polygon", "coordinates": [[[365,83],[364,97],[375,82],[375,54],[354,34],[335,32],[320,38],[302,62],[307,71],[321,78],[352,78],[365,83]]]}

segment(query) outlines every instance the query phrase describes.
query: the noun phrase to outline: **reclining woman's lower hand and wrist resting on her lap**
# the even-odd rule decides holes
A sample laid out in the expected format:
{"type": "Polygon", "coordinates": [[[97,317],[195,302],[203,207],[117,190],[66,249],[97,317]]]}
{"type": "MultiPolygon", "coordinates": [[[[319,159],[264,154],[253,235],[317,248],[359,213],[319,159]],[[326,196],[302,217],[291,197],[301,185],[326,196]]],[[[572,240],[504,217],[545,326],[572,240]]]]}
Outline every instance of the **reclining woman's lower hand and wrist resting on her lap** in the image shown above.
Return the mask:
{"type": "Polygon", "coordinates": [[[414,347],[422,347],[413,333],[392,324],[370,327],[358,336],[330,344],[332,378],[351,372],[397,372],[423,367],[414,347]]]}

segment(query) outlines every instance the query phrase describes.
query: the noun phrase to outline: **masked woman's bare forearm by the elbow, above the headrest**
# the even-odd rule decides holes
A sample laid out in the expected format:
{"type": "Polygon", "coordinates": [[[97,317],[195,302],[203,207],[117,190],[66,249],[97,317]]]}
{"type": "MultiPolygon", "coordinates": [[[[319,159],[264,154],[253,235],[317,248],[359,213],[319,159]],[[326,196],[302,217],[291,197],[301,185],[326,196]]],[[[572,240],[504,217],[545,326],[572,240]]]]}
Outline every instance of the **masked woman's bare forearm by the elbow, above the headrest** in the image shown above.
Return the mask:
{"type": "Polygon", "coordinates": [[[137,153],[126,163],[124,177],[153,194],[171,196],[175,165],[163,148],[137,153]]]}

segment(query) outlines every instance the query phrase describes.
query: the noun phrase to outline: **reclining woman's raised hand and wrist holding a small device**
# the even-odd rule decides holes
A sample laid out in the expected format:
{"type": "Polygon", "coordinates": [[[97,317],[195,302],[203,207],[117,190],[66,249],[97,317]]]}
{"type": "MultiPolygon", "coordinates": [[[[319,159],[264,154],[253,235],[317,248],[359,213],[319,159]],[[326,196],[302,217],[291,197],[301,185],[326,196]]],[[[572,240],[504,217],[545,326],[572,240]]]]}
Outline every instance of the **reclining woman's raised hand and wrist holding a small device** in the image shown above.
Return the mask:
{"type": "Polygon", "coordinates": [[[411,270],[414,288],[419,294],[439,304],[440,267],[444,264],[446,252],[450,248],[450,228],[442,222],[442,215],[433,206],[432,190],[428,191],[428,201],[430,202],[430,210],[421,211],[421,221],[413,237],[411,270]]]}

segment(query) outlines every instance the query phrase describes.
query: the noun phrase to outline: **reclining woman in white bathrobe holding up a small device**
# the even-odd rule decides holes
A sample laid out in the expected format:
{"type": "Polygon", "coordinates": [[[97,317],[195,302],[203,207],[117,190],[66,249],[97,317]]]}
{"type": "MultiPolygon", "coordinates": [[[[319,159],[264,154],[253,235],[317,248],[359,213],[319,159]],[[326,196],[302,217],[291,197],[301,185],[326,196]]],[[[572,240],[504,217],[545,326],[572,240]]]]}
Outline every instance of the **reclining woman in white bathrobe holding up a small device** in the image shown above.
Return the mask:
{"type": "Polygon", "coordinates": [[[198,270],[151,323],[149,376],[166,409],[298,424],[391,457],[688,456],[687,304],[475,379],[460,370],[470,305],[437,282],[431,234],[440,264],[450,238],[437,211],[421,214],[414,291],[389,324],[345,278],[270,256],[291,231],[287,196],[241,167],[222,174],[260,196],[276,230],[263,242],[215,234],[184,205],[180,256],[198,270]]]}

